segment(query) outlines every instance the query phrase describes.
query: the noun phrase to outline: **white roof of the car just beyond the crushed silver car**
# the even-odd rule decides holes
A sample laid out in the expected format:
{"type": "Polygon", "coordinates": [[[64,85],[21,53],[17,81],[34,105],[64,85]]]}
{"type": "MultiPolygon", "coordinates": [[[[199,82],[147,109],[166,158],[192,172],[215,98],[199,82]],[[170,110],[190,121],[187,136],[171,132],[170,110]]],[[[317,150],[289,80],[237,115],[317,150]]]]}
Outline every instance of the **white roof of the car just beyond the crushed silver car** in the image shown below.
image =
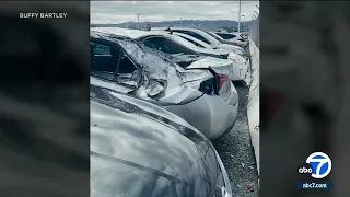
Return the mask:
{"type": "Polygon", "coordinates": [[[168,33],[164,31],[138,31],[129,28],[119,28],[119,27],[92,27],[93,31],[98,31],[107,34],[113,34],[117,36],[130,37],[132,39],[138,39],[143,36],[149,35],[163,35],[167,36],[168,33]]]}

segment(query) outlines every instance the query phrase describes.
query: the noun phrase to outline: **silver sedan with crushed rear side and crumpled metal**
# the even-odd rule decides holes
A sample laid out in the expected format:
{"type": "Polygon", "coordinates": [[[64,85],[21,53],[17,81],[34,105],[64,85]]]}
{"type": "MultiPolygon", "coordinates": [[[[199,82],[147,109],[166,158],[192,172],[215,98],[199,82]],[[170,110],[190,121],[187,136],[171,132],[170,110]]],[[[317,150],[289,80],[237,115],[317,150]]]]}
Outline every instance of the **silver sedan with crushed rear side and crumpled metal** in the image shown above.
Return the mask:
{"type": "Polygon", "coordinates": [[[91,84],[128,93],[177,114],[209,139],[229,132],[238,94],[228,76],[211,67],[184,69],[135,42],[91,31],[91,84]]]}

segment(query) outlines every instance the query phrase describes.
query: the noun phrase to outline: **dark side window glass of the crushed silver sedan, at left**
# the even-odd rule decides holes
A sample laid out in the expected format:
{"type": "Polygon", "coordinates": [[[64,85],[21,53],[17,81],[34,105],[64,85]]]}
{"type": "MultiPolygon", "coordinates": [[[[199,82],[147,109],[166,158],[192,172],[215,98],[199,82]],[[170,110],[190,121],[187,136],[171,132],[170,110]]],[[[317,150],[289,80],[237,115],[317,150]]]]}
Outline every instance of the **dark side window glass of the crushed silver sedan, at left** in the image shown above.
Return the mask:
{"type": "Polygon", "coordinates": [[[92,62],[91,74],[121,83],[137,86],[141,72],[137,69],[127,54],[119,47],[106,44],[91,43],[92,62]]]}

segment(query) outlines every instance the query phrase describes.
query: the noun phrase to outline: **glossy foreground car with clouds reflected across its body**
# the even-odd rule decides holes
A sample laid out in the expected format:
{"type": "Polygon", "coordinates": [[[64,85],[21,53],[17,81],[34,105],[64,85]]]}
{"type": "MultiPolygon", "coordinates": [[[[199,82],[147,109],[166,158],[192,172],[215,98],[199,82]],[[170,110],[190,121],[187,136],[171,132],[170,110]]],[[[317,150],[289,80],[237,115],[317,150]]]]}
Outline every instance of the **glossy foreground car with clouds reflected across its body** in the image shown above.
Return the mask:
{"type": "Polygon", "coordinates": [[[149,102],[91,86],[92,197],[232,197],[212,143],[149,102]]]}

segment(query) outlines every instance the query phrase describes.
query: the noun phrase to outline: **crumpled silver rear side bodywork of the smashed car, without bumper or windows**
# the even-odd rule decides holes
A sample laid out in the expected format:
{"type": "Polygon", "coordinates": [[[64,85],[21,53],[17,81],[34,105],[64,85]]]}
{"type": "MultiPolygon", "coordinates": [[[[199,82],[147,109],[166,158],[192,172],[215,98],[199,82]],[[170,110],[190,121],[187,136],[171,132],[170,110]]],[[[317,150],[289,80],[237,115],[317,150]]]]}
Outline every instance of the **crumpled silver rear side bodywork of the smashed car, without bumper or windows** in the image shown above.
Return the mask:
{"type": "MultiPolygon", "coordinates": [[[[130,39],[120,39],[113,35],[106,36],[105,34],[101,36],[104,36],[104,39],[118,43],[132,60],[142,67],[144,73],[142,74],[142,84],[139,84],[133,94],[143,100],[154,101],[154,96],[156,96],[156,102],[160,105],[188,102],[201,96],[202,93],[197,91],[200,83],[213,77],[208,69],[186,70],[174,63],[171,60],[172,58],[164,53],[162,54],[143,45],[138,45],[130,39]],[[159,85],[162,85],[164,90],[156,95],[150,95],[149,92],[153,92],[153,89],[158,89],[159,85]]],[[[91,84],[112,90],[120,89],[120,85],[116,86],[113,82],[94,77],[91,77],[91,84]]]]}

